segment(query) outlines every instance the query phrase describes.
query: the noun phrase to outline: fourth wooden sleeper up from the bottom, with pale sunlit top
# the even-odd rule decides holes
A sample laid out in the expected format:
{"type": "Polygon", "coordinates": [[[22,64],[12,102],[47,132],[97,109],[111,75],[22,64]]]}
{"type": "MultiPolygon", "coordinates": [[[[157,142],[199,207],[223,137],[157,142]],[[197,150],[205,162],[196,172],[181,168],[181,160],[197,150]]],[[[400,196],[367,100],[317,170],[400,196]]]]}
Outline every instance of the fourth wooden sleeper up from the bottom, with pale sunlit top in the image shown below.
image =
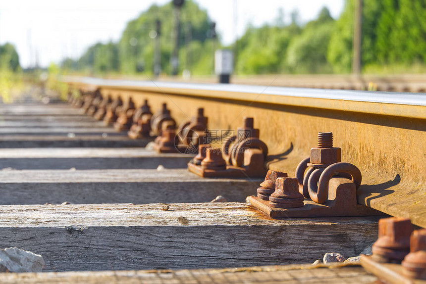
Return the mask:
{"type": "Polygon", "coordinates": [[[0,169],[156,169],[159,165],[182,169],[193,156],[145,148],[4,148],[0,149],[0,169]]]}

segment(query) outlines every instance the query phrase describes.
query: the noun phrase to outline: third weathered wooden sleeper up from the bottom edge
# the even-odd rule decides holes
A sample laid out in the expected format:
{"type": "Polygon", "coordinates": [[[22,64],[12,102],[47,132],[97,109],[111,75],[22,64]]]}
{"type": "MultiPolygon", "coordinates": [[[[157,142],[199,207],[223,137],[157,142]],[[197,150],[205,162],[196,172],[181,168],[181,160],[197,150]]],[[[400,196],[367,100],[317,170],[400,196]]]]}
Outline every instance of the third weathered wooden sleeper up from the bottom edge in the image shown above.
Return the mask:
{"type": "MultiPolygon", "coordinates": [[[[152,160],[151,160],[152,162],[152,160]]],[[[244,201],[260,179],[203,179],[186,169],[0,171],[0,204],[244,201]]]]}

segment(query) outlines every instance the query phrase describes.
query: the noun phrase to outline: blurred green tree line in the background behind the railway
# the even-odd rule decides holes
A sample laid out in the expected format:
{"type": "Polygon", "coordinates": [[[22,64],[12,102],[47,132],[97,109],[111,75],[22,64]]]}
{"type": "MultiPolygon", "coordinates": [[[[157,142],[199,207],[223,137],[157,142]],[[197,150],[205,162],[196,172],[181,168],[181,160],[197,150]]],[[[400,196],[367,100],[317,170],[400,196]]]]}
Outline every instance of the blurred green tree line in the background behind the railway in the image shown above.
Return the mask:
{"type": "MultiPolygon", "coordinates": [[[[277,16],[261,27],[249,25],[246,32],[227,48],[234,51],[235,73],[349,73],[356,0],[346,0],[335,20],[327,8],[317,19],[304,25],[297,11],[290,20],[278,9],[277,16]],[[287,24],[287,22],[289,22],[287,24]]],[[[425,70],[426,0],[363,1],[362,66],[367,72],[425,70]],[[412,69],[412,66],[417,66],[412,69]],[[395,67],[395,68],[394,68],[395,67]]],[[[67,58],[65,70],[92,75],[106,73],[153,74],[156,20],[161,21],[160,63],[170,73],[173,5],[152,5],[128,22],[117,43],[98,43],[78,59],[67,58]]],[[[193,0],[185,1],[180,12],[179,72],[193,75],[213,72],[213,54],[221,48],[220,37],[211,37],[211,20],[193,0]]]]}

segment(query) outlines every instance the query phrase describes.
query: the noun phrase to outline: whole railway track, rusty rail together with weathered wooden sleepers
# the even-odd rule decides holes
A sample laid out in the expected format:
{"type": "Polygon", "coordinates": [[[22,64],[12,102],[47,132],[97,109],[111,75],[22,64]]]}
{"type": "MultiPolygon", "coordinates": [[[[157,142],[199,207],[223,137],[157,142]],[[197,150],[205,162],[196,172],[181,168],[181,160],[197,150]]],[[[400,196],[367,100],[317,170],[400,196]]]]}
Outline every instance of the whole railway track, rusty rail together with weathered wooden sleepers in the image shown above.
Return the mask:
{"type": "MultiPolygon", "coordinates": [[[[359,255],[377,239],[377,221],[386,214],[426,226],[423,94],[69,77],[64,81],[72,90],[70,101],[83,108],[86,105],[86,111],[91,106],[99,111],[108,97],[106,110],[113,109],[118,98],[121,105],[114,108],[116,117],[108,126],[65,103],[0,105],[2,246],[41,254],[46,262],[44,271],[52,272],[37,278],[0,274],[2,283],[274,283],[283,279],[289,283],[320,283],[324,279],[370,283],[376,276],[359,266],[288,265],[312,263],[333,251],[346,257],[359,255]],[[135,115],[146,100],[154,115],[163,103],[170,113],[162,113],[162,119],[157,120],[149,116],[153,123],[147,123],[146,117],[135,115]],[[202,114],[199,108],[204,108],[202,114]],[[193,124],[183,123],[192,116],[193,124]],[[192,160],[197,152],[173,140],[174,135],[180,140],[178,134],[186,135],[191,129],[196,135],[190,140],[197,141],[194,145],[202,144],[203,131],[194,125],[205,122],[203,117],[208,119],[203,127],[208,127],[213,146],[207,148],[211,160],[203,160],[203,173],[225,176],[202,178],[189,172],[188,162],[198,169],[192,160]],[[254,125],[244,117],[253,117],[254,125]],[[124,127],[129,119],[130,125],[149,125],[151,134],[160,131],[161,139],[152,135],[131,139],[127,129],[113,130],[112,125],[124,127]],[[176,130],[173,121],[181,125],[176,130]],[[243,123],[244,133],[259,129],[259,135],[249,137],[253,144],[242,146],[242,160],[236,147],[231,165],[218,170],[218,156],[214,155],[219,150],[215,146],[220,147],[225,134],[241,129],[243,123]],[[332,132],[334,147],[325,145],[325,140],[317,147],[318,132],[332,132]],[[170,142],[175,153],[154,150],[173,151],[166,147],[170,142]],[[267,146],[267,155],[261,142],[267,146]],[[322,153],[324,148],[338,153],[336,147],[341,148],[341,159],[322,153]],[[266,209],[259,199],[246,200],[249,195],[267,192],[268,183],[263,182],[267,169],[279,171],[277,188],[279,180],[283,183],[280,190],[290,196],[286,183],[297,185],[297,168],[310,156],[311,148],[319,149],[320,159],[334,159],[316,163],[311,152],[316,169],[341,160],[362,174],[360,185],[351,171],[353,182],[347,175],[331,175],[324,203],[331,211],[309,203],[313,201],[308,202],[306,196],[305,205],[294,208],[297,210],[266,209]],[[263,166],[264,172],[256,173],[263,166]],[[232,176],[235,168],[246,176],[232,176]],[[281,172],[294,178],[285,178],[281,172]],[[257,191],[261,183],[263,191],[257,191]],[[352,203],[340,199],[339,192],[355,191],[352,203]],[[227,202],[209,202],[218,195],[227,202]],[[348,217],[338,211],[341,204],[349,211],[355,206],[353,202],[358,204],[357,213],[348,217]],[[308,207],[317,208],[316,213],[307,210],[303,218],[268,216],[276,212],[291,215],[308,207]],[[363,214],[369,216],[354,216],[363,214]]],[[[304,171],[301,174],[304,178],[304,171]]],[[[284,195],[279,195],[281,200],[287,198],[284,195]]],[[[290,200],[292,204],[294,200],[290,200]]]]}

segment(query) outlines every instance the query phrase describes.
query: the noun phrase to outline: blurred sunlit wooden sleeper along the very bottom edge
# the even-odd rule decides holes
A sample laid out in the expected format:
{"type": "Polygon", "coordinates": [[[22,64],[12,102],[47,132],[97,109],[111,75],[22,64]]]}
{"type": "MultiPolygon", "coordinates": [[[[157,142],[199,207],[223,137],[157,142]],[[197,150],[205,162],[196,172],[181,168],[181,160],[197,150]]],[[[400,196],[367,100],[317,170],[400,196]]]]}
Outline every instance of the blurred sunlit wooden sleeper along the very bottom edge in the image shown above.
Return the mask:
{"type": "Polygon", "coordinates": [[[373,283],[377,280],[359,266],[312,267],[311,265],[261,266],[230,269],[200,270],[139,270],[102,272],[48,272],[48,273],[2,273],[3,284],[161,284],[161,283],[268,283],[268,284],[322,284],[373,283]]]}

